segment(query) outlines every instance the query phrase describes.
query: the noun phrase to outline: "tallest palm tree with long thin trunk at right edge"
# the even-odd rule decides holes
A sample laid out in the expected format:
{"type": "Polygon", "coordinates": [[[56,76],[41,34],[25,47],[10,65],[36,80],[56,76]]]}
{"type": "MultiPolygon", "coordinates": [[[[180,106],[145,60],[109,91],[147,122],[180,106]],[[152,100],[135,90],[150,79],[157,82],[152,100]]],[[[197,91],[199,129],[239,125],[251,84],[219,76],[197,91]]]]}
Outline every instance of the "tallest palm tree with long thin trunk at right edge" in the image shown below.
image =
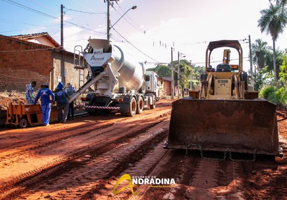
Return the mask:
{"type": "Polygon", "coordinates": [[[282,33],[287,24],[287,12],[286,9],[280,7],[280,5],[270,4],[269,9],[260,11],[261,17],[258,20],[258,27],[261,32],[267,32],[273,39],[273,69],[275,82],[278,81],[277,69],[276,69],[276,54],[275,54],[275,41],[277,40],[279,33],[282,33]]]}

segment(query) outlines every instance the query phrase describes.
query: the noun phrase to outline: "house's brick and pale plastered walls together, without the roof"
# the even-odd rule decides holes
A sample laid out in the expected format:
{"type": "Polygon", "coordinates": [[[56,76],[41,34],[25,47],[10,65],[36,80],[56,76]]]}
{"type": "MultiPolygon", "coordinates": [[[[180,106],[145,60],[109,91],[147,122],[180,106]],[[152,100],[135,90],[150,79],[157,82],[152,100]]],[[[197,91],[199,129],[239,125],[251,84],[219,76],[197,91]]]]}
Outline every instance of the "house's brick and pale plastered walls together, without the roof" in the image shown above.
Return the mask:
{"type": "MultiPolygon", "coordinates": [[[[58,85],[57,77],[61,76],[63,84],[70,82],[78,89],[80,70],[74,69],[74,54],[65,50],[50,48],[49,46],[0,35],[0,68],[38,72],[49,77],[49,86],[52,90],[55,90],[58,85]],[[64,70],[61,70],[61,66],[64,70]]],[[[83,74],[83,70],[81,73],[83,74]]],[[[87,72],[85,72],[85,75],[87,75],[87,72]]],[[[81,79],[83,79],[83,76],[81,79]]],[[[83,82],[81,85],[83,85],[83,82]]]]}

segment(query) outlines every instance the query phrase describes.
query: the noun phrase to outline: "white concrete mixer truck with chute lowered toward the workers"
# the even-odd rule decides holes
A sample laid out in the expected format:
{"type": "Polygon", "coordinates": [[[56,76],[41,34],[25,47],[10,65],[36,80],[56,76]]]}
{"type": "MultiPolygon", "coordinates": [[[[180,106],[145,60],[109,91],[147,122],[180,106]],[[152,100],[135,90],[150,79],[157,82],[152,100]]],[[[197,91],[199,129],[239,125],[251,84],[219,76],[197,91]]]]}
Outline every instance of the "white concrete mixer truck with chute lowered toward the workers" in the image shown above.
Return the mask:
{"type": "Polygon", "coordinates": [[[87,93],[82,98],[86,104],[80,107],[89,114],[109,111],[134,116],[144,108],[154,109],[158,101],[157,74],[146,71],[132,54],[106,39],[88,42],[84,51],[81,46],[75,47],[74,65],[88,69],[90,75],[70,102],[87,93]]]}

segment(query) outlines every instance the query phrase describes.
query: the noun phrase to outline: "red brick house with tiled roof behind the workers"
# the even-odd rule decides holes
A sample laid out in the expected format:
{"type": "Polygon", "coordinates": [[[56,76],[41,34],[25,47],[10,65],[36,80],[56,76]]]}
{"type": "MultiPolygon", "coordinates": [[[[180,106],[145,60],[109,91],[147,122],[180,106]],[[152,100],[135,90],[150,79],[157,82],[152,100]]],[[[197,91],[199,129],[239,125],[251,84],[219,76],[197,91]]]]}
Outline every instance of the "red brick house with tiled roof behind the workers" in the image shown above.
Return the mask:
{"type": "Polygon", "coordinates": [[[78,89],[85,83],[87,73],[85,69],[74,68],[74,53],[61,48],[48,33],[0,34],[0,77],[10,77],[9,81],[0,78],[0,90],[5,86],[7,91],[15,83],[24,85],[25,90],[27,82],[44,80],[43,77],[52,90],[59,81],[70,82],[78,89]]]}

